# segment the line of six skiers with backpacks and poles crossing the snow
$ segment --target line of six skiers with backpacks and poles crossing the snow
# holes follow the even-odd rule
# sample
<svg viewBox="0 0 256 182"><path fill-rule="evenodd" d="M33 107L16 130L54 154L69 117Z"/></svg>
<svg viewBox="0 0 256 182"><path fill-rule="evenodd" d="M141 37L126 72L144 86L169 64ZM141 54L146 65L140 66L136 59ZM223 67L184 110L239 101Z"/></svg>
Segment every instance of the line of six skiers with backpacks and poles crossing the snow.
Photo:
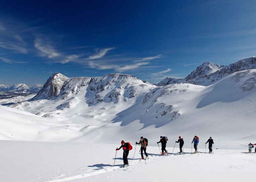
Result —
<svg viewBox="0 0 256 182"><path fill-rule="evenodd" d="M168 151L165 149L165 148L166 148L166 143L167 143L167 141L168 141L168 138L167 138L167 137L165 137L165 136L160 136L160 141L157 142L157 144L161 143L161 150L162 150L161 156L168 154ZM182 153L183 153L183 145L184 145L184 140L183 140L183 138L181 138L181 136L179 136L178 141L175 141L175 142L176 142L176 143L179 143L179 149L180 149L179 154L182 154ZM198 145L198 143L199 143L199 137L198 137L198 136L195 136L195 137L193 138L193 141L192 141L191 143L193 143L193 142L194 142L194 149L195 149L195 152L194 152L194 153L197 153L197 152L198 152L197 145ZM207 140L207 142L206 142L205 144L207 144L208 142L209 142L209 153L212 153L212 152L213 152L212 146L213 146L213 144L214 144L212 137L210 137L210 138ZM251 143L250 143L250 144L251 144ZM139 142L136 142L136 145L140 145L140 146L141 146L141 150L140 150L140 151L141 151L141 159L142 159L142 160L143 160L143 159L145 159L145 160L148 159L149 156L148 156L148 154L147 154L147 152L146 152L147 146L148 146L148 139L141 137L141 138L140 138L140 141L139 141ZM256 144L254 144L254 145L256 145ZM191 147L192 147L192 146L191 146ZM129 150L132 149L132 146L131 146L131 144L130 144L129 142L125 143L125 142L122 140L122 141L121 141L121 146L120 146L119 148L116 148L116 151L120 150L121 148L123 148L123 162L124 162L123 167L126 167L126 166L129 165L127 157L128 157L128 155L129 155ZM160 149L160 148L159 148L159 149ZM191 150L192 150L192 149L191 149ZM145 154L146 158L144 158L144 156L143 156L143 151L144 151L144 154ZM165 152L165 153L164 153L164 152Z"/></svg>

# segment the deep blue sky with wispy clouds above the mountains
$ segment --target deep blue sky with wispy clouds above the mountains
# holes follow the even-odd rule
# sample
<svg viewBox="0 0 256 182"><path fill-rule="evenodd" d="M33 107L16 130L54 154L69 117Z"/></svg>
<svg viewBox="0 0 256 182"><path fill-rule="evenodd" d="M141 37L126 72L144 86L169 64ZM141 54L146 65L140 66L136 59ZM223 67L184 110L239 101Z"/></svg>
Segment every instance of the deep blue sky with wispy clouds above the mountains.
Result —
<svg viewBox="0 0 256 182"><path fill-rule="evenodd" d="M184 78L256 55L256 1L2 1L0 84L132 74Z"/></svg>

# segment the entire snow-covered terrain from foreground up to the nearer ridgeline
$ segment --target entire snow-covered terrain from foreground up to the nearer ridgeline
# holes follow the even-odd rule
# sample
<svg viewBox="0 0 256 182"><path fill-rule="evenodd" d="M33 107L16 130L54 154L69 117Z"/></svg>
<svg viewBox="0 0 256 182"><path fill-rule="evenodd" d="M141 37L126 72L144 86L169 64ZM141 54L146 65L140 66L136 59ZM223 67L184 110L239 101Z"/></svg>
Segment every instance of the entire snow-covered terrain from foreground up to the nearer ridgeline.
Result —
<svg viewBox="0 0 256 182"><path fill-rule="evenodd" d="M157 87L121 74L62 78L59 95L51 99L0 106L0 181L252 179L256 154L248 154L248 144L256 143L255 69L210 86ZM160 156L160 135L168 136L168 156ZM200 153L191 155L195 135ZM146 161L139 160L140 147L135 145L141 136L149 140ZM185 142L184 155L177 155L178 136ZM214 154L205 145L210 136ZM121 140L133 145L127 168L120 167L122 150L114 164Z"/></svg>

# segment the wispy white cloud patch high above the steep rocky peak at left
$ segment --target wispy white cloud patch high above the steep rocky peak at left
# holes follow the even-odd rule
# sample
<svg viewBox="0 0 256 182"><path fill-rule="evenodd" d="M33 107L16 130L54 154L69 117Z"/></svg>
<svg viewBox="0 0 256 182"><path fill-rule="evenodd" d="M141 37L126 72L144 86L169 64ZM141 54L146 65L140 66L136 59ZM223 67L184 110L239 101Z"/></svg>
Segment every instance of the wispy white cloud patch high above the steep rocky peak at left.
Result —
<svg viewBox="0 0 256 182"><path fill-rule="evenodd" d="M43 45L42 40L38 38L34 41L34 47L42 57L56 58L61 56L51 45Z"/></svg>

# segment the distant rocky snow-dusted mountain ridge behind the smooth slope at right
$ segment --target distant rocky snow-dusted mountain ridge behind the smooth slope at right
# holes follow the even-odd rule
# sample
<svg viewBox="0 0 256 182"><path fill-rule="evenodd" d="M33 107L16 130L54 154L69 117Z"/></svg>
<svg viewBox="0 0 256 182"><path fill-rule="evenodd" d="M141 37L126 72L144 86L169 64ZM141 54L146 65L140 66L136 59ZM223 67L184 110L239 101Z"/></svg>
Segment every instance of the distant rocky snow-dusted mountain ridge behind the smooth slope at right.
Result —
<svg viewBox="0 0 256 182"><path fill-rule="evenodd" d="M255 69L255 68L256 68L255 56L237 61L227 66L206 62L200 65L199 67L197 67L194 71L192 71L187 77L183 79L166 77L156 85L165 86L168 84L185 82L185 83L191 83L194 85L208 86L234 72L247 70L247 69Z"/></svg>

